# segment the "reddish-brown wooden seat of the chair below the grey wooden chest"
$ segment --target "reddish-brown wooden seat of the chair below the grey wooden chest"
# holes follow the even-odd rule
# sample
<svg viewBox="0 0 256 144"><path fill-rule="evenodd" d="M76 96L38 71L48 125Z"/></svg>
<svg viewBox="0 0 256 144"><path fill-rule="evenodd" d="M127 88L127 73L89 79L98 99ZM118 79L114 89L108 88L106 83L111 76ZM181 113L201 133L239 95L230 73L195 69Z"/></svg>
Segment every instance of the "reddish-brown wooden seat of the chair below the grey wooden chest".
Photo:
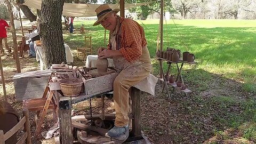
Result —
<svg viewBox="0 0 256 144"><path fill-rule="evenodd" d="M29 111L43 110L47 98L23 100L23 108ZM51 102L48 109L53 109L54 105Z"/></svg>

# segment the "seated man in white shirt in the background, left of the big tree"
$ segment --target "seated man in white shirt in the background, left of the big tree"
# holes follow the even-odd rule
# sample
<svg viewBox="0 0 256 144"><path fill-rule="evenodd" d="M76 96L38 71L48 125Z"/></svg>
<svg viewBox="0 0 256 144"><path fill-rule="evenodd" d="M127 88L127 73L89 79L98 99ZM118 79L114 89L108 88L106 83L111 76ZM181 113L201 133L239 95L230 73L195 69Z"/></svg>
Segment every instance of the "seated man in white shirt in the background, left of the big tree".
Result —
<svg viewBox="0 0 256 144"><path fill-rule="evenodd" d="M26 38L29 38L29 57L35 58L36 57L36 51L34 47L34 41L40 40L38 31L37 31L37 21L32 22L32 27L35 29L32 33L27 34Z"/></svg>

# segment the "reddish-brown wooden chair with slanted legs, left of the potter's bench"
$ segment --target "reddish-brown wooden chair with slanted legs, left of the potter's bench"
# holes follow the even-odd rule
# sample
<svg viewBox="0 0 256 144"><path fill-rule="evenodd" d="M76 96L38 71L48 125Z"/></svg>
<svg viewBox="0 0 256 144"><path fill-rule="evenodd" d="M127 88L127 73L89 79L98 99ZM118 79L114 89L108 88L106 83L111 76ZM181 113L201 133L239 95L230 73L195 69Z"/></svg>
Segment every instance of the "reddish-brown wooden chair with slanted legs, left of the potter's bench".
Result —
<svg viewBox="0 0 256 144"><path fill-rule="evenodd" d="M48 83L50 82L51 77L52 77L52 74L49 77ZM46 97L47 93L49 93L48 97ZM49 87L46 86L42 98L23 100L23 108L28 109L28 111L36 111L35 118L34 118L34 122L36 123L36 131L34 134L34 139L36 138L36 136L41 130L41 126L43 124L43 121L48 109L53 109L54 121L58 121L58 116L56 114L57 104L55 104L53 100L53 95L54 95L54 91L50 91ZM38 120L37 117L41 111L42 111L41 117L37 122Z"/></svg>

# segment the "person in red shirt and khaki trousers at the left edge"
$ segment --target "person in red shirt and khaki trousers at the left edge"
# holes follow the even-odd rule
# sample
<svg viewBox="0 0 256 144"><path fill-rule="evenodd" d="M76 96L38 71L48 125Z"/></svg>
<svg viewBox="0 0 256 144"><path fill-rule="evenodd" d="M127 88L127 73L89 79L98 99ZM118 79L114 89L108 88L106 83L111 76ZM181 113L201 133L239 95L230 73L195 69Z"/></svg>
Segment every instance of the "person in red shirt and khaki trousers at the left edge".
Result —
<svg viewBox="0 0 256 144"><path fill-rule="evenodd" d="M7 34L6 34L7 28L9 28L8 23L0 17L0 48L1 48L1 53L3 54L4 54L3 42L4 42L5 50L7 50L7 52L11 52L11 50L9 49L9 45L7 44Z"/></svg>

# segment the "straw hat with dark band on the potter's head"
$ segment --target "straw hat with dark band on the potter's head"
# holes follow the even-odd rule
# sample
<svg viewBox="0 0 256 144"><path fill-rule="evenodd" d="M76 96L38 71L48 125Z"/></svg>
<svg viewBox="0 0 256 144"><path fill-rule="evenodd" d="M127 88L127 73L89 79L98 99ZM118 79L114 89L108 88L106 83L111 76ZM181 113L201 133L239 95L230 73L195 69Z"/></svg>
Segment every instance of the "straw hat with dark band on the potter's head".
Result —
<svg viewBox="0 0 256 144"><path fill-rule="evenodd" d="M110 9L108 4L102 4L95 10L98 20L93 24L93 26L100 25L100 22L106 17L106 15L110 12L118 13L120 9Z"/></svg>

